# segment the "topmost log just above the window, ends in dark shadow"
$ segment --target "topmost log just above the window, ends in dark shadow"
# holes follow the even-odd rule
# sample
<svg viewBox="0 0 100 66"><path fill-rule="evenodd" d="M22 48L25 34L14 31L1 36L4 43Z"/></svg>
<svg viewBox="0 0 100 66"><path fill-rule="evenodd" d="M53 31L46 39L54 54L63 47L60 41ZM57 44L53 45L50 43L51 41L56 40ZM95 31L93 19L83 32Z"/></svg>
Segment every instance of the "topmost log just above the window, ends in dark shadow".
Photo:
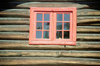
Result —
<svg viewBox="0 0 100 66"><path fill-rule="evenodd" d="M8 2L0 3L1 8L30 8L30 7L77 7L77 8L100 8L99 2ZM95 5L96 4L96 5ZM6 6L4 6L6 5Z"/></svg>

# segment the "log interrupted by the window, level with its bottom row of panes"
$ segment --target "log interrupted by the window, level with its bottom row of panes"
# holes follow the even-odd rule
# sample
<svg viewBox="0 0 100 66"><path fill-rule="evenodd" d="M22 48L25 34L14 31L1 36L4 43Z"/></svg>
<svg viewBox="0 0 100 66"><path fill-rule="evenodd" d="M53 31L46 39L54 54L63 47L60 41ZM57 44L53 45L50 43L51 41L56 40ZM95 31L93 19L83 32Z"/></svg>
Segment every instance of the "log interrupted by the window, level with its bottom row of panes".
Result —
<svg viewBox="0 0 100 66"><path fill-rule="evenodd" d="M0 39L29 39L28 32L0 32ZM100 34L77 33L77 39L100 40Z"/></svg>

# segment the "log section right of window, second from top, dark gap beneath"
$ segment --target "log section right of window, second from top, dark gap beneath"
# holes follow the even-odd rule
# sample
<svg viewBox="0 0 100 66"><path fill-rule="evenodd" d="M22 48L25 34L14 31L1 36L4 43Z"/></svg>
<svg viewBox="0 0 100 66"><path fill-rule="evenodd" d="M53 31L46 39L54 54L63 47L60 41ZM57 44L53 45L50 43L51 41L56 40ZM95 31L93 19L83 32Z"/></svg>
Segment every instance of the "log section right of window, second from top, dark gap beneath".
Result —
<svg viewBox="0 0 100 66"><path fill-rule="evenodd" d="M100 16L79 16L77 17L78 26L100 26Z"/></svg>

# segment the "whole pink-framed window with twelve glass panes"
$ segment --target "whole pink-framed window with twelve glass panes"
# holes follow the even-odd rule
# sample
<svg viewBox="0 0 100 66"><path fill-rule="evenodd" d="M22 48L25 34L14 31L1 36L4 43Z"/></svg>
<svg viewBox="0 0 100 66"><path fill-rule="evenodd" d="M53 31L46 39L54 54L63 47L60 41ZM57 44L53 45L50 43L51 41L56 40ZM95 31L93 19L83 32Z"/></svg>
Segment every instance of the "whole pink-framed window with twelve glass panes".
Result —
<svg viewBox="0 0 100 66"><path fill-rule="evenodd" d="M30 45L76 45L76 8L30 8Z"/></svg>

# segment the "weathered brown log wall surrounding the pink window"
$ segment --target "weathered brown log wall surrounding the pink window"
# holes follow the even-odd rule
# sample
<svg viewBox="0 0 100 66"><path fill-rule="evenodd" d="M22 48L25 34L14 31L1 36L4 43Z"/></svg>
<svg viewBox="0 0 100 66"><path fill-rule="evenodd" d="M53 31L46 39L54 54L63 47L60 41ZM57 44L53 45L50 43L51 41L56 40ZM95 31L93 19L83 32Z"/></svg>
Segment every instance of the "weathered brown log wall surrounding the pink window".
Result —
<svg viewBox="0 0 100 66"><path fill-rule="evenodd" d="M100 65L98 0L0 1L0 66ZM28 45L30 7L77 7L77 45Z"/></svg>

